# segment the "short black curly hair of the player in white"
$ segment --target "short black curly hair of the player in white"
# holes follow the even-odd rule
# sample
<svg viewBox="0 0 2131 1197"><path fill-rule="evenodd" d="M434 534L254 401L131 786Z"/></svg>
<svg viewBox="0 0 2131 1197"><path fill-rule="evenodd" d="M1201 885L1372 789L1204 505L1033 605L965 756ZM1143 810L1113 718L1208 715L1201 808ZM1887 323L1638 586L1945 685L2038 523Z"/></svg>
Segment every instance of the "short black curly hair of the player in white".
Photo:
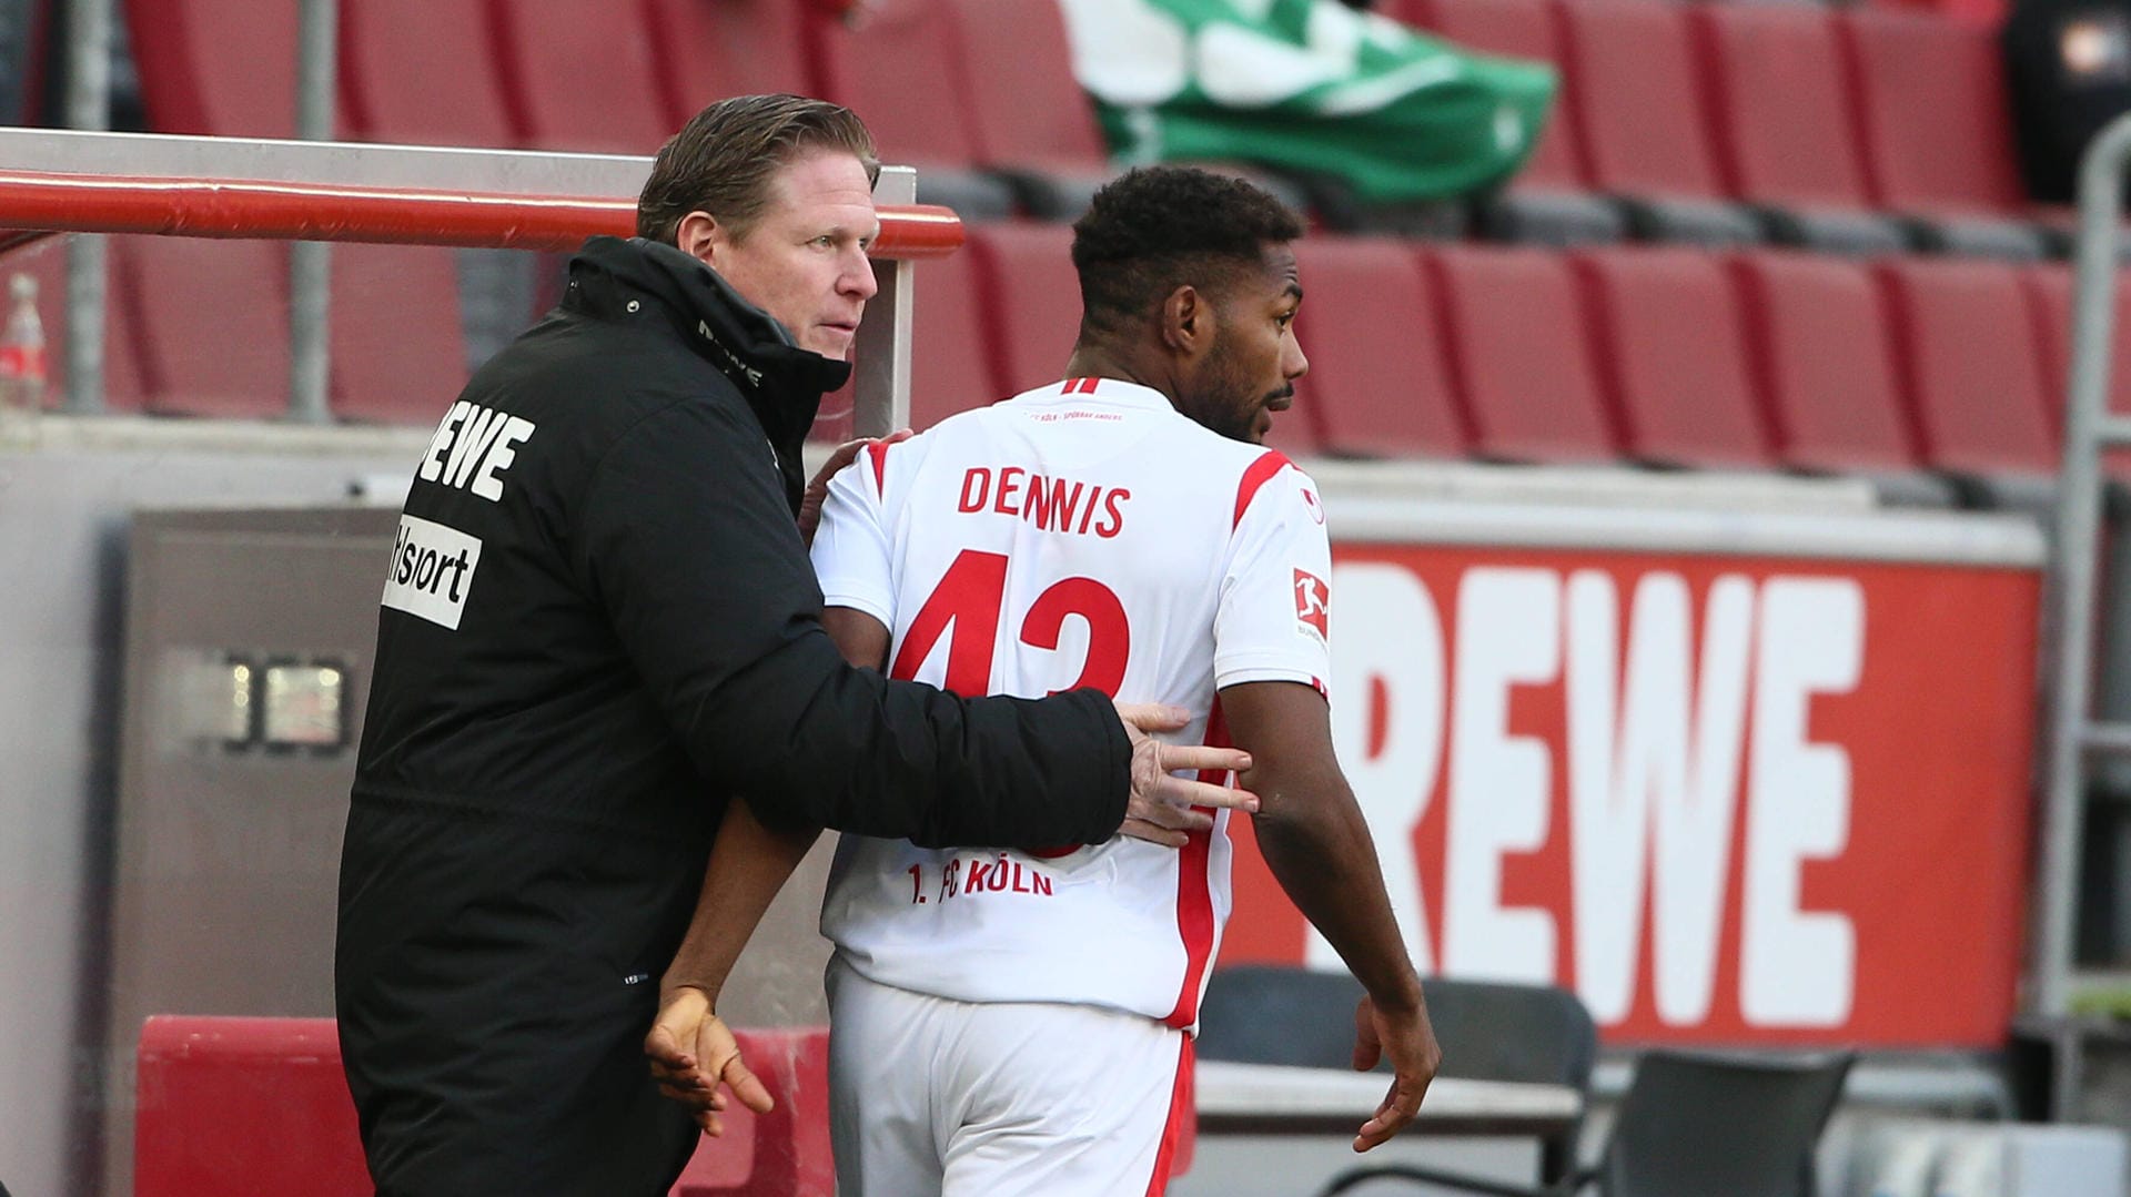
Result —
<svg viewBox="0 0 2131 1197"><path fill-rule="evenodd" d="M1072 226L1083 326L1144 317L1181 285L1223 288L1259 268L1266 243L1302 219L1262 187L1193 166L1140 166L1112 179Z"/></svg>

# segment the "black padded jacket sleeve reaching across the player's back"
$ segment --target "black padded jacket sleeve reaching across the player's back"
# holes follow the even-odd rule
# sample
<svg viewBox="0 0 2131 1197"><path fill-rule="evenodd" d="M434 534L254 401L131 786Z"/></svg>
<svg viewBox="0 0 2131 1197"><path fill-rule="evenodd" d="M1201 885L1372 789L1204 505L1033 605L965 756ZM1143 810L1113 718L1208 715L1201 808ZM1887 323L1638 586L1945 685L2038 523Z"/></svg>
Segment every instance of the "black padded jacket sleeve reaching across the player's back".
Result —
<svg viewBox="0 0 2131 1197"><path fill-rule="evenodd" d="M767 820L1040 848L1125 818L1132 752L1102 694L957 699L844 662L769 443L737 407L690 398L622 434L573 556L697 769Z"/></svg>

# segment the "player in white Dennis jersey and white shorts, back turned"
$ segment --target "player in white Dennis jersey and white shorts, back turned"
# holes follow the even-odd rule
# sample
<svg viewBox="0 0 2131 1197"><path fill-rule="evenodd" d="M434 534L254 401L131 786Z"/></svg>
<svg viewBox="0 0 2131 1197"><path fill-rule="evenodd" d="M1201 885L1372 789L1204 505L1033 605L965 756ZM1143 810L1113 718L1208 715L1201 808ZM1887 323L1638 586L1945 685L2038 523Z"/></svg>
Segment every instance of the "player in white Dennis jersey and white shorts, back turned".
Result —
<svg viewBox="0 0 2131 1197"><path fill-rule="evenodd" d="M1413 1120L1441 1052L1332 752L1323 509L1264 447L1308 368L1300 234L1204 170L1106 185L1074 226L1068 379L863 454L829 483L814 567L852 665L972 694L1093 684L1251 752L1257 843L1368 995L1353 1063L1394 1063L1368 1150ZM667 971L646 1050L705 1127L718 1080L754 1080L699 1027L812 841L733 805ZM823 901L837 1193L1161 1193L1230 852L1225 814L1181 854L844 835Z"/></svg>

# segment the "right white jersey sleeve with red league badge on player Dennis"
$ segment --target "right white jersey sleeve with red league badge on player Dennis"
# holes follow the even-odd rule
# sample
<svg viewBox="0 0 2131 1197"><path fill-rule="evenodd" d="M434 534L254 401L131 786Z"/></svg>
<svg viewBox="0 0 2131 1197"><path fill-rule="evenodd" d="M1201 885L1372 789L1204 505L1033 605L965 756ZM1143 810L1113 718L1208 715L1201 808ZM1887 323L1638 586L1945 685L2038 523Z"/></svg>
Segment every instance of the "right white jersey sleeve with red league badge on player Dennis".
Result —
<svg viewBox="0 0 2131 1197"><path fill-rule="evenodd" d="M1215 688L1332 675L1332 543L1317 483L1283 466L1236 520L1215 613Z"/></svg>

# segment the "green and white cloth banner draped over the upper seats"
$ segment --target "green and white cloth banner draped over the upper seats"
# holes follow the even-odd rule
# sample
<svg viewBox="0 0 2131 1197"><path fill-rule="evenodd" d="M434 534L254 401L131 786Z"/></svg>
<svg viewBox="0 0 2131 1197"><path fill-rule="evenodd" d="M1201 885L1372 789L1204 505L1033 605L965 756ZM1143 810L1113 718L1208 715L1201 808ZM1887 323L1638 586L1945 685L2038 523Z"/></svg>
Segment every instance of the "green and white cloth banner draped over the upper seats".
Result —
<svg viewBox="0 0 2131 1197"><path fill-rule="evenodd" d="M1125 162L1234 160L1364 200L1494 187L1539 141L1556 72L1336 0L1061 0L1074 75Z"/></svg>

